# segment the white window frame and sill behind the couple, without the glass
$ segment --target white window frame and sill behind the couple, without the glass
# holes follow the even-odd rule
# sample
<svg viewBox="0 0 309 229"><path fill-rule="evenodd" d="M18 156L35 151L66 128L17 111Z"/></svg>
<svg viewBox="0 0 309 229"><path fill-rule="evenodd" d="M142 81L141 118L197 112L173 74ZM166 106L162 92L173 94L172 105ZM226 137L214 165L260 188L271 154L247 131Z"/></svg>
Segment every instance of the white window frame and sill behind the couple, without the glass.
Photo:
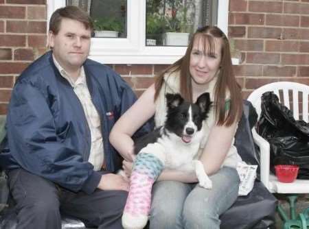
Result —
<svg viewBox="0 0 309 229"><path fill-rule="evenodd" d="M127 38L91 38L89 58L104 64L172 64L187 47L146 46L146 0L127 0ZM47 0L47 21L65 0ZM218 0L218 27L227 34L229 1ZM47 28L48 30L48 28Z"/></svg>

